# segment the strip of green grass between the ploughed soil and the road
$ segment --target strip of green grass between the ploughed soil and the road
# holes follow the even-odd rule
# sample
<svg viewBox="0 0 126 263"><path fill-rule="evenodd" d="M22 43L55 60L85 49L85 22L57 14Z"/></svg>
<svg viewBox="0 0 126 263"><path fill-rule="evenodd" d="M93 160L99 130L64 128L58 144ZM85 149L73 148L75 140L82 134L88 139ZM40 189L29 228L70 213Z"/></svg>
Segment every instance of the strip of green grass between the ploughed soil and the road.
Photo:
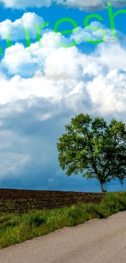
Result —
<svg viewBox="0 0 126 263"><path fill-rule="evenodd" d="M100 203L80 202L71 207L34 209L24 214L4 213L0 217L0 249L123 210L126 210L126 192L109 192Z"/></svg>

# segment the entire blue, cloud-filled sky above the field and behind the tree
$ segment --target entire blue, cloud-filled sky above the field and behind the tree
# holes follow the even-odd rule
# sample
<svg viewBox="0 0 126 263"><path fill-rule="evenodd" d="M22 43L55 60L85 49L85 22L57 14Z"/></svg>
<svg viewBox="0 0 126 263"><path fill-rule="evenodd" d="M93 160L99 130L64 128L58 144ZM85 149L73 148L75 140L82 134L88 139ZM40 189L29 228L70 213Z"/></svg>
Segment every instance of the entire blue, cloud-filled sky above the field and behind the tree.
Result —
<svg viewBox="0 0 126 263"><path fill-rule="evenodd" d="M113 14L126 10L126 0L111 4ZM66 176L57 139L79 113L103 117L107 124L112 118L126 123L126 13L114 18L116 39L103 0L2 0L0 14L0 188L101 192L96 179ZM91 14L97 17L85 26ZM73 19L78 31L62 22L58 31L71 33L55 33L61 18ZM35 24L47 21L38 43ZM103 42L89 43L86 37ZM78 43L63 47L58 39L63 45ZM119 181L107 183L109 191L126 191L126 180L122 187Z"/></svg>

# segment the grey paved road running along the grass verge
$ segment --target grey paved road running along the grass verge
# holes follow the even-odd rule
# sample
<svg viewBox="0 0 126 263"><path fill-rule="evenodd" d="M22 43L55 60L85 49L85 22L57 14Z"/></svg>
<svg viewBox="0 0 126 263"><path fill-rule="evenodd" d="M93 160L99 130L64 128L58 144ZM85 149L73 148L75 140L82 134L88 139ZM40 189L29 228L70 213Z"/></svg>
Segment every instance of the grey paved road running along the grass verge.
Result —
<svg viewBox="0 0 126 263"><path fill-rule="evenodd" d="M0 250L1 263L126 263L126 211Z"/></svg>

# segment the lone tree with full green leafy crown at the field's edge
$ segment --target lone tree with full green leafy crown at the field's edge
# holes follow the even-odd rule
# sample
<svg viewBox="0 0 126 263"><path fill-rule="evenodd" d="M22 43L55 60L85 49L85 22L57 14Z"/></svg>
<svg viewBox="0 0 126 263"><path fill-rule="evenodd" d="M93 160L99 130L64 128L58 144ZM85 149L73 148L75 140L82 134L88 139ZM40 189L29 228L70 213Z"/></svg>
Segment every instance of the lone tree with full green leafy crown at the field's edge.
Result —
<svg viewBox="0 0 126 263"><path fill-rule="evenodd" d="M102 192L107 192L106 182L126 177L126 126L114 118L107 125L103 118L92 118L80 113L65 125L57 149L58 160L67 176L83 173L87 180L99 180Z"/></svg>

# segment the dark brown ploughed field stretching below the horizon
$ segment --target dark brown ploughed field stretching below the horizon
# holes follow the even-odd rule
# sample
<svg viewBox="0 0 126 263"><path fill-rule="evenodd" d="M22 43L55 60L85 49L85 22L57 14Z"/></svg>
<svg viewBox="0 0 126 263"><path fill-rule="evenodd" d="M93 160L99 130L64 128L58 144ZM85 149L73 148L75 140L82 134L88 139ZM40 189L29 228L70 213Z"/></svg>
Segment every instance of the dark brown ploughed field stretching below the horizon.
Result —
<svg viewBox="0 0 126 263"><path fill-rule="evenodd" d="M0 188L0 214L54 209L78 202L98 203L106 193L18 190Z"/></svg>

